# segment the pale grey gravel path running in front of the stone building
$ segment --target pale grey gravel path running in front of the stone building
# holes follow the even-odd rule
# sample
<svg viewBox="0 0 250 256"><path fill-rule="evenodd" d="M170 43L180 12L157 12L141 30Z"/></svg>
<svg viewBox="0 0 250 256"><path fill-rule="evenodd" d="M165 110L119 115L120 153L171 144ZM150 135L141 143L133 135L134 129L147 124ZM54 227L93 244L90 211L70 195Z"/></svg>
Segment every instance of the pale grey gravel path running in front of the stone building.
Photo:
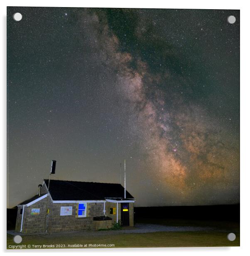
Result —
<svg viewBox="0 0 250 256"><path fill-rule="evenodd" d="M131 234L131 233L153 233L153 232L197 232L197 231L225 231L215 227L209 226L164 226L157 224L135 224L134 228L125 228L121 230L101 230L101 231L74 231L66 232L71 233L73 236L103 236L103 235L115 235L115 234ZM17 235L13 230L7 231L8 234ZM53 234L53 236L61 236L65 233ZM29 235L29 234L21 234ZM34 235L34 234L33 234ZM48 235L48 234L36 234L36 235Z"/></svg>

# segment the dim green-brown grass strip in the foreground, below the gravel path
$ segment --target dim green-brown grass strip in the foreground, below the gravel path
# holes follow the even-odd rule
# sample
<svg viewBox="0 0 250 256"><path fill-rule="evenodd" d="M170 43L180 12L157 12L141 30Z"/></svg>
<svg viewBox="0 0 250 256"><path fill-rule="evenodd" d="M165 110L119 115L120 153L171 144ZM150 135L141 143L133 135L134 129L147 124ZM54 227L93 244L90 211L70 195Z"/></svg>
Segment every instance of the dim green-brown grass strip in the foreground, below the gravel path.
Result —
<svg viewBox="0 0 250 256"><path fill-rule="evenodd" d="M74 236L72 234L53 235L29 235L22 236L19 245L61 245L59 248L70 248L69 244L83 244L85 248L91 248L90 244L114 244L120 247L197 247L197 246L240 246L240 234L236 233L235 241L227 240L224 232L156 232L145 234L119 234L109 236L86 237L85 235ZM7 249L17 245L13 242L13 236L7 234ZM49 247L51 248L51 247ZM77 247L75 247L77 248ZM84 247L83 247L84 248ZM39 248L37 248L39 249Z"/></svg>

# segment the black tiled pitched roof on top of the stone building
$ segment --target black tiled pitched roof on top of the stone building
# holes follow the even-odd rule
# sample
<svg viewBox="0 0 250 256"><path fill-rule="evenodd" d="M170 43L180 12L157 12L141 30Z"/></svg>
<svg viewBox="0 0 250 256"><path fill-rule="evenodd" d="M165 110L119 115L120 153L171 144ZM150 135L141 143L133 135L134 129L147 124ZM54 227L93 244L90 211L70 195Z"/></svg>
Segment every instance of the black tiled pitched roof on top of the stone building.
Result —
<svg viewBox="0 0 250 256"><path fill-rule="evenodd" d="M48 181L44 180L48 187ZM124 187L115 183L80 182L68 180L50 180L49 193L53 200L105 200L105 198L123 198ZM134 198L126 192L127 198Z"/></svg>

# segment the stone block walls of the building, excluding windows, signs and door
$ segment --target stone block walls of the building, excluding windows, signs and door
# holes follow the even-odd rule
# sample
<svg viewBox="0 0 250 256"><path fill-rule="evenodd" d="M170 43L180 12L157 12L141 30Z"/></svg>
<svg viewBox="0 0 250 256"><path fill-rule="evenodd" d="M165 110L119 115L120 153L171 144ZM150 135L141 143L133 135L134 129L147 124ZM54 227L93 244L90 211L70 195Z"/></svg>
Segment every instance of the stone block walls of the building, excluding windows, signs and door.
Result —
<svg viewBox="0 0 250 256"><path fill-rule="evenodd" d="M60 215L61 207L72 207L72 215ZM121 219L121 209L120 203L118 204L118 209L116 209L115 214L110 214L110 208L117 208L116 203L105 203L105 214L106 216L112 218L108 222L93 221L93 217L103 216L104 202L100 203L88 203L87 202L87 212L86 217L78 217L77 203L52 203L50 197L46 197L29 207L25 207L22 233L43 233L46 231L48 233L57 233L65 231L78 231L86 229L107 229L111 228L115 222L117 222L117 212L118 221ZM31 209L39 208L40 212L37 215L31 214ZM20 210L22 206L18 207L17 210L17 222L16 231L20 232L22 214ZM47 209L49 209L49 214L47 214ZM134 226L134 204L130 203L130 226ZM48 215L48 217L47 217ZM103 222L103 223L100 223ZM47 224L46 224L47 223ZM95 224L94 224L95 223Z"/></svg>

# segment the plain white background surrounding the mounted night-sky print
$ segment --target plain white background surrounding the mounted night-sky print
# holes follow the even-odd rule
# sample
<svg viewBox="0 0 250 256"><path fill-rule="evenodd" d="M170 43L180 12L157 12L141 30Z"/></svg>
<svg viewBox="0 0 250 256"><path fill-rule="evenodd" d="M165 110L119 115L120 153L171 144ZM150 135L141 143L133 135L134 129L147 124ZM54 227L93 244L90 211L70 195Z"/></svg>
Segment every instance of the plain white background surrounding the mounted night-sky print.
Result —
<svg viewBox="0 0 250 256"><path fill-rule="evenodd" d="M211 247L211 248L141 248L141 249L101 249L100 252L102 255L109 255L110 253L117 254L138 254L138 252L143 252L145 255L151 255L152 252L157 252L159 255L166 255L172 253L174 255L185 255L185 256L194 256L194 255L226 255L226 256L234 256L235 254L244 254L249 252L249 181L250 181L250 172L249 172L249 145L250 145L250 133L249 133L249 109L250 109L250 89L249 89L249 10L250 4L249 1L235 1L235 0L209 0L209 1L200 1L200 0L175 0L175 1L162 1L162 0L154 0L154 1L131 1L127 0L123 1L114 1L114 0L92 0L92 1L80 1L80 0L71 0L71 1L59 1L59 0L43 0L43 1L31 1L31 0L3 0L1 1L1 18L2 18L2 26L1 26L1 77L2 77L2 85L6 84L6 6L67 6L67 7L147 7L147 8L196 8L196 9L241 9L240 10L240 84L241 84L241 92L240 92L240 209L241 209L241 241L240 247ZM2 170L6 170L6 87L1 86L1 120L2 120L2 136L0 145L2 145ZM5 121L4 121L5 120ZM6 202L6 172L2 172L2 201ZM2 212L1 212L2 213ZM2 236L0 241L2 242L1 248L2 251L6 251L6 211L3 211L2 216ZM62 252L74 252L74 253L91 253L93 254L93 249L85 249L82 251L81 249L47 249L46 253L48 254L59 254ZM31 251L22 251L15 250L14 252L8 251L10 254L16 254L18 252L22 253L34 253L34 250ZM35 251L42 252L44 250Z"/></svg>

